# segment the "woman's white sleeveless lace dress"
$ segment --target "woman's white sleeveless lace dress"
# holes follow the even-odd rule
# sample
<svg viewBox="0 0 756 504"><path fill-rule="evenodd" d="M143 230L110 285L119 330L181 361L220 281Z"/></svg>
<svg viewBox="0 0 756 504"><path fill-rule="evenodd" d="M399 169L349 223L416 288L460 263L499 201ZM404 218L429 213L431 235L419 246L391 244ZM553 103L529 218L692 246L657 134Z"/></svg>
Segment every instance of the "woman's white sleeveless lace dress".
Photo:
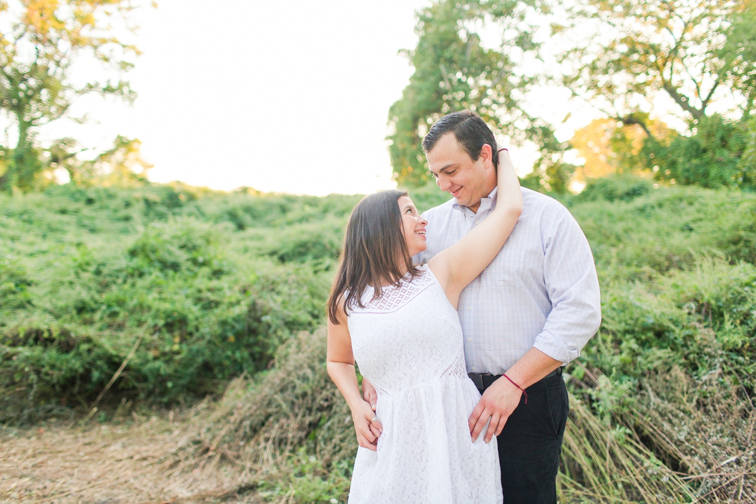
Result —
<svg viewBox="0 0 756 504"><path fill-rule="evenodd" d="M422 269L377 300L369 287L365 308L349 308L352 351L383 424L377 452L358 448L349 504L497 504L496 439L470 441L480 394L467 377L457 311Z"/></svg>

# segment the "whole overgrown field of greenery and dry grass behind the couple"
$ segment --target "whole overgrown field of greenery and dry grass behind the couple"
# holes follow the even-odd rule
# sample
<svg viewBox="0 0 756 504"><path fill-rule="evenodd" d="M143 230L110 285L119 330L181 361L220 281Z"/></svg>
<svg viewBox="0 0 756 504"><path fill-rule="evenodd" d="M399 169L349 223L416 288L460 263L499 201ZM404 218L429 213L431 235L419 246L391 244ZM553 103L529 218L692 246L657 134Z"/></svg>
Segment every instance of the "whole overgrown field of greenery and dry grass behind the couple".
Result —
<svg viewBox="0 0 756 504"><path fill-rule="evenodd" d="M0 499L344 502L354 434L319 328L357 200L0 196ZM567 369L562 502L756 502L756 196L609 178L562 203L603 299ZM76 450L77 476L49 469Z"/></svg>

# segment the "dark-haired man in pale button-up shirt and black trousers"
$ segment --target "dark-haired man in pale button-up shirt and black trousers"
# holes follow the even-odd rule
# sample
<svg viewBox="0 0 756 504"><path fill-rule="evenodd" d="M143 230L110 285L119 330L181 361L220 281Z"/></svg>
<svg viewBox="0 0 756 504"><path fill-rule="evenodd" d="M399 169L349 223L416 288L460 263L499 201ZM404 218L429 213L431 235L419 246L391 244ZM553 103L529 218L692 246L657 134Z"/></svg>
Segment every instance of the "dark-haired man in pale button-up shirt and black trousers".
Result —
<svg viewBox="0 0 756 504"><path fill-rule="evenodd" d="M469 110L435 122L423 150L436 184L454 199L423 213L428 248L416 257L420 263L491 212L498 163L491 129ZM473 440L497 435L505 504L556 504L569 408L561 369L599 327L599 283L590 247L569 211L525 188L522 200L509 240L463 291L457 308L467 370L482 392L469 427ZM374 407L370 384L363 394Z"/></svg>

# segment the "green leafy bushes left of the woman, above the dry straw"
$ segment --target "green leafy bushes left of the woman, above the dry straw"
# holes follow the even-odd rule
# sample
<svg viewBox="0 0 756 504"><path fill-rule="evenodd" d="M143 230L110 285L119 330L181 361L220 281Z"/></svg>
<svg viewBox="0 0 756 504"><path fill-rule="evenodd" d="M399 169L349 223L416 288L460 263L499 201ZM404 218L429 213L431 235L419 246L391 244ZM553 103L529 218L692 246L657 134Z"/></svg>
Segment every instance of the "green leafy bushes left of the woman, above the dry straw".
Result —
<svg viewBox="0 0 756 504"><path fill-rule="evenodd" d="M91 403L137 342L111 397L173 402L265 369L291 334L317 326L343 217L318 233L301 202L277 206L278 221L311 230L279 240L279 227L232 227L222 199L200 196L160 186L0 196L0 420Z"/></svg>

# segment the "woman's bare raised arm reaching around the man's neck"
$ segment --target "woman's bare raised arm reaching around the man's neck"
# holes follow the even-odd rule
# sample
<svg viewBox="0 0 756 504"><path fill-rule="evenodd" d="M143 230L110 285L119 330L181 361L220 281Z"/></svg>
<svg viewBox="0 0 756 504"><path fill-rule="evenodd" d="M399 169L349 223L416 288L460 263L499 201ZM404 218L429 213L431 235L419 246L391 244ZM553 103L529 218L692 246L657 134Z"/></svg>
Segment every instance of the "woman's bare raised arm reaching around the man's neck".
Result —
<svg viewBox="0 0 756 504"><path fill-rule="evenodd" d="M446 297L457 308L460 293L494 260L522 213L522 192L510 153L499 153L496 208L462 240L428 262Z"/></svg>

